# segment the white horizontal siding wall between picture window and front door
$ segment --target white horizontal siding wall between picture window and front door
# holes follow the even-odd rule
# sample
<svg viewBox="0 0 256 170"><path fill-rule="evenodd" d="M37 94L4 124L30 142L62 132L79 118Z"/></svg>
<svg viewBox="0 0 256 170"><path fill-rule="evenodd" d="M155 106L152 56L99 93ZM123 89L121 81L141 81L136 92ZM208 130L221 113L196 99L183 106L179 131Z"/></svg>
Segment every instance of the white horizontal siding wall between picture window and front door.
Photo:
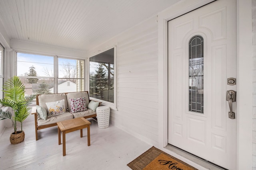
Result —
<svg viewBox="0 0 256 170"><path fill-rule="evenodd" d="M158 23L156 16L95 48L117 45L118 110L115 126L155 145L158 143Z"/></svg>

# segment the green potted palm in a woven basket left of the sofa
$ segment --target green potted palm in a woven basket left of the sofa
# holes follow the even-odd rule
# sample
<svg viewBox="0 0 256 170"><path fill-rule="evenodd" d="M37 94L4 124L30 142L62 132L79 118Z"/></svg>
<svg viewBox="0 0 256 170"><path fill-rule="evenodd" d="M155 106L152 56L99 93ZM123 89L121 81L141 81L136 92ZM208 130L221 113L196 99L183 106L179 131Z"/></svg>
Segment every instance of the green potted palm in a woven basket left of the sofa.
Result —
<svg viewBox="0 0 256 170"><path fill-rule="evenodd" d="M0 99L0 104L11 107L14 111L4 111L0 109L0 120L11 119L14 132L10 135L11 144L17 144L24 141L25 133L22 130L22 122L30 114L29 105L36 97L35 95L25 95L25 86L17 76L9 78L3 86L4 98ZM20 122L21 130L17 131L17 122Z"/></svg>

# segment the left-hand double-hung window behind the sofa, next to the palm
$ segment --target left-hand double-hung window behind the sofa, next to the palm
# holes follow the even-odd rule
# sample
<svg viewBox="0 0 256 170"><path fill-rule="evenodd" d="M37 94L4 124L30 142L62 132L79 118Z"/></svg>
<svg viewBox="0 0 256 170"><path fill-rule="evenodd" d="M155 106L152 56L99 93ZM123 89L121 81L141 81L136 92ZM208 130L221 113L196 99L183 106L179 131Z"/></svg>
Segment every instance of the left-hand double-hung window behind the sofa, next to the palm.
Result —
<svg viewBox="0 0 256 170"><path fill-rule="evenodd" d="M17 53L17 76L26 94L48 94L54 86L54 57Z"/></svg>

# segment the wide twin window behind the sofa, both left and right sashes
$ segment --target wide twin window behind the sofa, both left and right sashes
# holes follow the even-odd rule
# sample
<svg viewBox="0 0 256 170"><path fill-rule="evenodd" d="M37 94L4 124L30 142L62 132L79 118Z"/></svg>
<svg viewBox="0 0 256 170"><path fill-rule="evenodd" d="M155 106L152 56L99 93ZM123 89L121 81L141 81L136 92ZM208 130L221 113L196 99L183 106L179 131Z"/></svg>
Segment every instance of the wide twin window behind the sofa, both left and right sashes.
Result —
<svg viewBox="0 0 256 170"><path fill-rule="evenodd" d="M80 92L84 91L84 60L17 53L17 76L26 94Z"/></svg>

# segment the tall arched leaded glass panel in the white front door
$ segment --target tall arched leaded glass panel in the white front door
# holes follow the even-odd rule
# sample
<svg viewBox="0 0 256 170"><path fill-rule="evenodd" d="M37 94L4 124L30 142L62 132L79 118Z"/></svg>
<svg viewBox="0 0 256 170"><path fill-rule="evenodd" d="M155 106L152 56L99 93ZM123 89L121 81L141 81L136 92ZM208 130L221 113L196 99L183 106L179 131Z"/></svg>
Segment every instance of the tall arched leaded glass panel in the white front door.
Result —
<svg viewBox="0 0 256 170"><path fill-rule="evenodd" d="M189 111L204 113L204 39L189 41Z"/></svg>

